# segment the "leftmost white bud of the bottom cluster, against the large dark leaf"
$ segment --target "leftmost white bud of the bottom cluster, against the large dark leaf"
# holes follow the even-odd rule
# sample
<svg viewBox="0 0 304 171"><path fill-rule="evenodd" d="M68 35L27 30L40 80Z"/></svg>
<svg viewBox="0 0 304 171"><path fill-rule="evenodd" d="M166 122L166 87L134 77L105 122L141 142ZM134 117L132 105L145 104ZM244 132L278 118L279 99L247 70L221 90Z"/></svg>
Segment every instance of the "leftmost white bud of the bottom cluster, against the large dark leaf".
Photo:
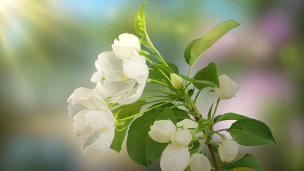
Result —
<svg viewBox="0 0 304 171"><path fill-rule="evenodd" d="M156 120L150 126L148 134L157 142L169 142L171 134L176 131L176 127L171 120Z"/></svg>

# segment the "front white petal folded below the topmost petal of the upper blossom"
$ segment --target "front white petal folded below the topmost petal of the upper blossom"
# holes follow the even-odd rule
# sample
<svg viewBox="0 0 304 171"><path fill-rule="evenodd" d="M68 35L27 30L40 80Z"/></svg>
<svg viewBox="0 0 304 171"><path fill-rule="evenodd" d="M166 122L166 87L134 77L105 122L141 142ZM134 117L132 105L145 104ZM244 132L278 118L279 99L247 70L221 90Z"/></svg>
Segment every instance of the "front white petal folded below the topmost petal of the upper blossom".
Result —
<svg viewBox="0 0 304 171"><path fill-rule="evenodd" d="M112 44L114 53L124 60L130 60L132 56L138 55L137 51L133 47L120 46Z"/></svg>

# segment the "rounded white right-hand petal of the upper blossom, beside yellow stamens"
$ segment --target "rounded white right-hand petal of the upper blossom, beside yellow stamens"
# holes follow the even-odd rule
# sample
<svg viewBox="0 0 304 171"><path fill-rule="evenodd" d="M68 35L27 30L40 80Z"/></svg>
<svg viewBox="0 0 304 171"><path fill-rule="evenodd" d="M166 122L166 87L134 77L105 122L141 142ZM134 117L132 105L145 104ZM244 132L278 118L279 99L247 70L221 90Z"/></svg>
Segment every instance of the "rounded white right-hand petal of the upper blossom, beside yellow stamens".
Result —
<svg viewBox="0 0 304 171"><path fill-rule="evenodd" d="M128 78L135 78L139 84L145 83L149 74L143 56L132 56L130 60L123 60L123 73Z"/></svg>

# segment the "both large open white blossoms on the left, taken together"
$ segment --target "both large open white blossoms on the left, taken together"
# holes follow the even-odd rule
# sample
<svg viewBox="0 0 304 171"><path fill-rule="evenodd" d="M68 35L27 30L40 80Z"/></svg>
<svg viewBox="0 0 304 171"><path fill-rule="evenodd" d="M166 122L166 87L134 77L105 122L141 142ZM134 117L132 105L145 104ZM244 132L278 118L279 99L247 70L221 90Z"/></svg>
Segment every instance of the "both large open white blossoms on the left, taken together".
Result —
<svg viewBox="0 0 304 171"><path fill-rule="evenodd" d="M68 113L73 117L73 129L84 139L85 154L100 154L109 149L117 123L113 109L135 102L142 94L148 67L144 56L138 54L137 36L122 33L95 61L97 71L91 76L95 88L79 87L68 97Z"/></svg>

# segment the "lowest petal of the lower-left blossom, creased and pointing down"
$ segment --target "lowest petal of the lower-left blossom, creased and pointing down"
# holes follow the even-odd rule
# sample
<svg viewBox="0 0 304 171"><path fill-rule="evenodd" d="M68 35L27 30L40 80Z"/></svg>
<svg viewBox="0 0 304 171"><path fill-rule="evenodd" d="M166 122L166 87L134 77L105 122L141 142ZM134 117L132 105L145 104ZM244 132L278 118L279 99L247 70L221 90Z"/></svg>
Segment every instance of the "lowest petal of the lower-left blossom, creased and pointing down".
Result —
<svg viewBox="0 0 304 171"><path fill-rule="evenodd" d="M82 143L81 149L85 154L100 155L108 150L114 138L115 127L92 132Z"/></svg>

